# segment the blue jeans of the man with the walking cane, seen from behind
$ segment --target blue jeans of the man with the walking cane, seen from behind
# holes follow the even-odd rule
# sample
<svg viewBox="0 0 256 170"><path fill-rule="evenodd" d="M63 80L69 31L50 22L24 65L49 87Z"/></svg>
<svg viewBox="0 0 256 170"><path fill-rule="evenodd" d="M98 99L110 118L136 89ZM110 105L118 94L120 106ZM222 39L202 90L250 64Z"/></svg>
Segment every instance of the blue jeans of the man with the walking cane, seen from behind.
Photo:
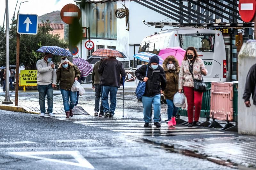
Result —
<svg viewBox="0 0 256 170"><path fill-rule="evenodd" d="M109 112L109 105L108 105L108 93L110 92L110 114L115 115L116 110L116 93L117 87L115 86L102 86L102 96L101 101L104 107L104 112Z"/></svg>

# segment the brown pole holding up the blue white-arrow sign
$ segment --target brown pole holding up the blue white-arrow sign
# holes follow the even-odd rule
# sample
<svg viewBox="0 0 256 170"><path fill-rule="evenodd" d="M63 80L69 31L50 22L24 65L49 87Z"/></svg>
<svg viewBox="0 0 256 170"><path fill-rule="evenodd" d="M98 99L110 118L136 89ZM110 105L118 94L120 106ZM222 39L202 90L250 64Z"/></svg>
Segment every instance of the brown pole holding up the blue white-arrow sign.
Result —
<svg viewBox="0 0 256 170"><path fill-rule="evenodd" d="M15 81L15 106L18 106L19 99L19 67L20 67L20 34L17 33L17 48L16 48L16 81Z"/></svg>

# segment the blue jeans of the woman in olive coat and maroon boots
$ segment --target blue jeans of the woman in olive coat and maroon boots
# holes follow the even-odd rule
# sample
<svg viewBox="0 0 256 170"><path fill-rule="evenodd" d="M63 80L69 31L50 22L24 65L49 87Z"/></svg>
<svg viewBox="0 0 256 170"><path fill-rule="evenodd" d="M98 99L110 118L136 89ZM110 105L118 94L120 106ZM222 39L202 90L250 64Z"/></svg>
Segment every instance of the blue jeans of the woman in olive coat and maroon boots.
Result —
<svg viewBox="0 0 256 170"><path fill-rule="evenodd" d="M76 104L76 92L60 89L65 112L72 110ZM70 104L68 104L70 98Z"/></svg>

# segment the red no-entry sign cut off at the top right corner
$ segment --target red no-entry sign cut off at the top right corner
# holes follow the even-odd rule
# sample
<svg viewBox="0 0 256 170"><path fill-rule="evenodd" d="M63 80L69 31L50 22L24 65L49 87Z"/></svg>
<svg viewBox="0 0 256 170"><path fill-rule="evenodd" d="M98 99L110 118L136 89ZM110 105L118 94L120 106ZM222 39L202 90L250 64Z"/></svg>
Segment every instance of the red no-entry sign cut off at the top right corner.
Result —
<svg viewBox="0 0 256 170"><path fill-rule="evenodd" d="M256 0L240 0L239 14L244 22L251 22L255 16Z"/></svg>

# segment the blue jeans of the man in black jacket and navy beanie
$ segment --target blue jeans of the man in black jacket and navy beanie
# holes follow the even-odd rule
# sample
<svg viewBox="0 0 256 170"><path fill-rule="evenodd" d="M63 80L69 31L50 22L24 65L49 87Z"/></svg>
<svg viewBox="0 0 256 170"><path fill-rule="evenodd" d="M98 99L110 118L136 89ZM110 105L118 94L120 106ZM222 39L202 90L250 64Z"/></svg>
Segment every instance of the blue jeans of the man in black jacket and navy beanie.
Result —
<svg viewBox="0 0 256 170"><path fill-rule="evenodd" d="M143 104L143 114L144 114L144 122L150 122L150 113L152 108L152 103L154 107L154 121L159 121L160 109L161 109L161 101L160 94L155 95L154 97L142 96L142 104Z"/></svg>

